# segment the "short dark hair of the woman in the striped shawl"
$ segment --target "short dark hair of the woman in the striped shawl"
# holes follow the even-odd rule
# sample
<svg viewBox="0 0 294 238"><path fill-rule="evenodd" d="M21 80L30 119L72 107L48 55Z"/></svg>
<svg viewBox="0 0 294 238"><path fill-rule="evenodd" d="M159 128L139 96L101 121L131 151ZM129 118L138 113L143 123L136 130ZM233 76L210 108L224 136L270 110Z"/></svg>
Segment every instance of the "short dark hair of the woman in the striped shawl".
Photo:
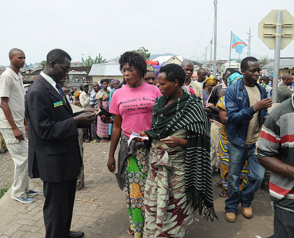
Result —
<svg viewBox="0 0 294 238"><path fill-rule="evenodd" d="M177 79L179 80L180 86L185 82L186 73L178 64L167 64L161 67L159 72L165 73L165 77L169 82L174 82Z"/></svg>

